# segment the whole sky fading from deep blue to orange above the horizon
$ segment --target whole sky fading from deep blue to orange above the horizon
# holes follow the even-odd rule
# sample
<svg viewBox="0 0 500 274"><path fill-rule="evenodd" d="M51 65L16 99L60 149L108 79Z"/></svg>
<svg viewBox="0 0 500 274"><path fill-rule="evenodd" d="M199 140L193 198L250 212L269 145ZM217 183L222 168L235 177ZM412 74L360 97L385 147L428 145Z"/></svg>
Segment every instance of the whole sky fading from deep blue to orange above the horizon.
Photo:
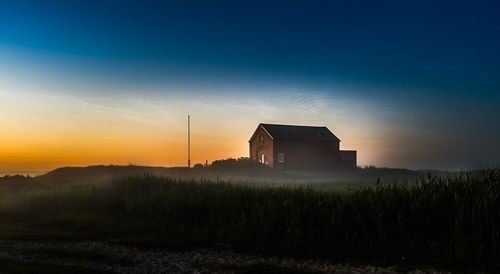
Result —
<svg viewBox="0 0 500 274"><path fill-rule="evenodd" d="M2 1L0 174L248 156L327 126L358 164L500 163L498 1Z"/></svg>

